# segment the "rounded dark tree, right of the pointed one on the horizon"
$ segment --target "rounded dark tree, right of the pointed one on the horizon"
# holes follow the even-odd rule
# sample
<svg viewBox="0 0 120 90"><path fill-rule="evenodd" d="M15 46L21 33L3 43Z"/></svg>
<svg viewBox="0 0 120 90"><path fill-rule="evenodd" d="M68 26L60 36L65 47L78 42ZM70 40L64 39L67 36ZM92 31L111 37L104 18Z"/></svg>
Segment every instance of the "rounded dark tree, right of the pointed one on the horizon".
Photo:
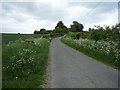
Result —
<svg viewBox="0 0 120 90"><path fill-rule="evenodd" d="M81 23L78 23L77 21L73 21L73 25L70 26L72 32L81 32L84 28L84 26Z"/></svg>

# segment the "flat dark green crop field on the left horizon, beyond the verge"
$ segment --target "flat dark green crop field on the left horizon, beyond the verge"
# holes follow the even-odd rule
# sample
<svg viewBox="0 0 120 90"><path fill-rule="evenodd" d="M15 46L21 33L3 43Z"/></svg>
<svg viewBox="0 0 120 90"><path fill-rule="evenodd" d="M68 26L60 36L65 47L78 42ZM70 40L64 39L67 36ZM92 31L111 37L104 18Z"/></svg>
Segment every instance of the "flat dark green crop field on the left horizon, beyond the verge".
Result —
<svg viewBox="0 0 120 90"><path fill-rule="evenodd" d="M41 37L40 34L2 34L2 43L8 43L9 41L15 41L19 39L27 39L27 38L37 38Z"/></svg>

